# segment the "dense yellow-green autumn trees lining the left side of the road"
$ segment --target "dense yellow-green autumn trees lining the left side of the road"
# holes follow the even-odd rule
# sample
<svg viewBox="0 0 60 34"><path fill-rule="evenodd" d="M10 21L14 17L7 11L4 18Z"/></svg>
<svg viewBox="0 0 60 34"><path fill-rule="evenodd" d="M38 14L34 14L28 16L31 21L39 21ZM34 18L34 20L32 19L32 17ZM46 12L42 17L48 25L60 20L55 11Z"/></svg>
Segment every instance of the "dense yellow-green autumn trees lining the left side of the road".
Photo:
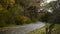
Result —
<svg viewBox="0 0 60 34"><path fill-rule="evenodd" d="M0 0L0 27L37 21L36 0Z"/></svg>

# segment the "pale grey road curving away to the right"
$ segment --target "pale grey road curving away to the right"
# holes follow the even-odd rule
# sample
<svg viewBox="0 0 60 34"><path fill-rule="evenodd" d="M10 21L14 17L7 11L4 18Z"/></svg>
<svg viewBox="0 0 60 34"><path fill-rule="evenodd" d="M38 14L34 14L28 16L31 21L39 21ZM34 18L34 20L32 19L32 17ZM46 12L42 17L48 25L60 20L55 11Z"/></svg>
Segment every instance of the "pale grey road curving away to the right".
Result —
<svg viewBox="0 0 60 34"><path fill-rule="evenodd" d="M45 26L44 23L38 22L38 23L32 23L22 26L13 27L12 29L9 29L4 32L0 32L0 34L26 34L32 30L35 30L37 28L41 28Z"/></svg>

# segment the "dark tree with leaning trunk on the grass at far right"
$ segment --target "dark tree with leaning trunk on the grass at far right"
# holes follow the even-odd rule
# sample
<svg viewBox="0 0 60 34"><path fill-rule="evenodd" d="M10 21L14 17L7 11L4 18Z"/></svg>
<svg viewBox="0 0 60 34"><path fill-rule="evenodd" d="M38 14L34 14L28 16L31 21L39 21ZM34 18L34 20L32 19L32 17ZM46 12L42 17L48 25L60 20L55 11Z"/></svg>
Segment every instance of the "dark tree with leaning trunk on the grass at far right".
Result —
<svg viewBox="0 0 60 34"><path fill-rule="evenodd" d="M51 25L49 26L49 28L47 29L47 27L46 27L46 29L47 29L47 31L48 31L48 33L47 33L47 31L46 31L46 34L51 34L51 31L52 31L52 29L54 28L54 25L55 24L60 24L60 1L54 1L54 2L52 2L52 3L49 3L48 5L47 5L47 7L46 8L52 8L52 13L50 13L50 16L48 15L48 19L47 19L47 22L49 22Z"/></svg>

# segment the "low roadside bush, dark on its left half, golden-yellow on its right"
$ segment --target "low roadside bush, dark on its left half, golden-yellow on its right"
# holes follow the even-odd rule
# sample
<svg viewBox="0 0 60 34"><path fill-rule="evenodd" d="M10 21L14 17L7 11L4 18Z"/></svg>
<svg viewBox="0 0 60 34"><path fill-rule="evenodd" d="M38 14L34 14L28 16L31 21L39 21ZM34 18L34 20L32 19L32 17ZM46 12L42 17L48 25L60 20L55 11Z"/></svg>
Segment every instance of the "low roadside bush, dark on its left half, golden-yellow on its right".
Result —
<svg viewBox="0 0 60 34"><path fill-rule="evenodd" d="M22 25L22 24L28 24L31 22L31 20L26 17L26 16L19 16L17 17L17 19L15 20L17 25Z"/></svg>

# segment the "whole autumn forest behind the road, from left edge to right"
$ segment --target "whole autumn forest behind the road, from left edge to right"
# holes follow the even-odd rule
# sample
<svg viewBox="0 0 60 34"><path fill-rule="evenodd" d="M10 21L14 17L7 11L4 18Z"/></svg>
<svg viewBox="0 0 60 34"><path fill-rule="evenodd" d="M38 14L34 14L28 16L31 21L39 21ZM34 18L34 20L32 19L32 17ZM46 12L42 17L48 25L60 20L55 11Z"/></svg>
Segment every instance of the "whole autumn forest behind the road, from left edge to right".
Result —
<svg viewBox="0 0 60 34"><path fill-rule="evenodd" d="M44 0L43 0L44 1ZM60 3L42 0L0 0L0 27L31 22L60 22ZM50 11L50 12L49 12Z"/></svg>

